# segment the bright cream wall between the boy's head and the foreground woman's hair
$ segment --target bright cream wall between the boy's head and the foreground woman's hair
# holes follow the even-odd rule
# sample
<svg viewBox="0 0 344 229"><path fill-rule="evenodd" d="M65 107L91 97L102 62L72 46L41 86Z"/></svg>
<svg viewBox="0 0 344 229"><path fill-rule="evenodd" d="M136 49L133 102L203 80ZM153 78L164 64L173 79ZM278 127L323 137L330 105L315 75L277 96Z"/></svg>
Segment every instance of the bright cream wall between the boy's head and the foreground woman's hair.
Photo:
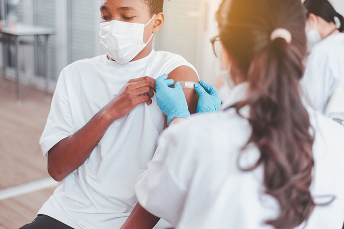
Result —
<svg viewBox="0 0 344 229"><path fill-rule="evenodd" d="M218 35L215 12L220 0L165 0L165 25L155 37L155 49L182 55L201 77L214 83L210 39Z"/></svg>

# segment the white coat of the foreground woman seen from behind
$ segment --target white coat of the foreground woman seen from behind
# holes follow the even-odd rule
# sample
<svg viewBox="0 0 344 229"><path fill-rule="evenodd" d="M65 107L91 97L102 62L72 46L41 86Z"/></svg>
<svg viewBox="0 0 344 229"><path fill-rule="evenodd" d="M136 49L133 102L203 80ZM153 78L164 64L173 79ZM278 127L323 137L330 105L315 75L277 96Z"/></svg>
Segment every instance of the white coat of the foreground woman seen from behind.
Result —
<svg viewBox="0 0 344 229"><path fill-rule="evenodd" d="M236 86L231 102L243 99L247 84ZM233 104L229 100L228 104ZM246 117L248 109L242 114ZM306 229L341 229L344 222L344 128L310 111L315 128L314 197L336 196L316 206ZM135 186L140 204L177 229L271 229L264 221L279 215L277 201L264 194L263 167L238 168L239 152L252 128L235 109L194 115L163 132L148 170ZM243 168L259 158L251 145L241 156ZM329 198L315 198L321 204ZM303 227L299 227L300 229Z"/></svg>

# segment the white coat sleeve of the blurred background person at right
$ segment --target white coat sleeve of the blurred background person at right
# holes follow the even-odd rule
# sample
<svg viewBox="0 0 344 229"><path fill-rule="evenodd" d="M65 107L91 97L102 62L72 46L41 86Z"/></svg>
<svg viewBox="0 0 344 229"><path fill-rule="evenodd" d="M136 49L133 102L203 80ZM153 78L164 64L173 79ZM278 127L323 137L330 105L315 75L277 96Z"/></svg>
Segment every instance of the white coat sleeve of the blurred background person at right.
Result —
<svg viewBox="0 0 344 229"><path fill-rule="evenodd" d="M308 58L306 71L301 80L307 101L321 113L325 112L338 81L331 69L330 62L331 57L327 52L315 49Z"/></svg>

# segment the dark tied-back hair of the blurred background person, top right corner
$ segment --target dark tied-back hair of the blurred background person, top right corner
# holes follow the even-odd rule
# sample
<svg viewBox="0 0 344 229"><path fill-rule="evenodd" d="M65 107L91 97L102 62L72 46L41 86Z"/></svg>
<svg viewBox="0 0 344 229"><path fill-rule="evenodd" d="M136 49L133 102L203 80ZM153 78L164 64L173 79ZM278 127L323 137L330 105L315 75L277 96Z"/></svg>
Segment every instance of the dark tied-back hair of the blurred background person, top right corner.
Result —
<svg viewBox="0 0 344 229"><path fill-rule="evenodd" d="M326 22L333 22L334 24L336 24L335 17L337 17L341 22L341 27L338 30L344 32L344 17L333 8L328 0L306 0L303 5L307 10L307 17L312 13Z"/></svg>

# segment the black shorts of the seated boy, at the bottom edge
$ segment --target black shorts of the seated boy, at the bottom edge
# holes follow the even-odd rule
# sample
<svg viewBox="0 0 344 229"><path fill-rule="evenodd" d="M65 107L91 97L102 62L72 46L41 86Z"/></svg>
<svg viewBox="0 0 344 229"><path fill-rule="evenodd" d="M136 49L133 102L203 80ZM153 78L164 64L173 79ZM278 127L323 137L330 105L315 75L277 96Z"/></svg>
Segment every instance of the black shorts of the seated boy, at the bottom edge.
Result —
<svg viewBox="0 0 344 229"><path fill-rule="evenodd" d="M38 215L31 223L24 225L20 229L73 229L58 220L47 216Z"/></svg>

